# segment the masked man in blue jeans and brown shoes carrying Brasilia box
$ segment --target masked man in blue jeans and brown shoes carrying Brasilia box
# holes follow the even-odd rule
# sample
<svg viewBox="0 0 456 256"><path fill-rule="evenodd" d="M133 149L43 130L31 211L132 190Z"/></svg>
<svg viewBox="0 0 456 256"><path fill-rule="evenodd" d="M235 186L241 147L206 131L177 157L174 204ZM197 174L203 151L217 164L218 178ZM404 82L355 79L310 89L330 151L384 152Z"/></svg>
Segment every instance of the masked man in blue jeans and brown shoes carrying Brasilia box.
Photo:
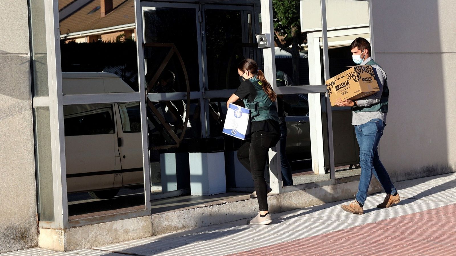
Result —
<svg viewBox="0 0 456 256"><path fill-rule="evenodd" d="M359 179L358 193L355 200L349 205L342 205L342 209L353 214L363 214L372 174L382 184L386 192L383 203L378 208L387 208L399 203L399 194L394 187L389 174L383 167L378 157L378 143L386 126L388 113L388 79L383 69L371 57L370 43L358 37L350 46L353 61L358 65L371 65L378 83L379 91L371 96L355 101L340 98L336 104L340 107L353 108L352 124L355 126L356 138L359 144L359 159L361 164L361 177Z"/></svg>

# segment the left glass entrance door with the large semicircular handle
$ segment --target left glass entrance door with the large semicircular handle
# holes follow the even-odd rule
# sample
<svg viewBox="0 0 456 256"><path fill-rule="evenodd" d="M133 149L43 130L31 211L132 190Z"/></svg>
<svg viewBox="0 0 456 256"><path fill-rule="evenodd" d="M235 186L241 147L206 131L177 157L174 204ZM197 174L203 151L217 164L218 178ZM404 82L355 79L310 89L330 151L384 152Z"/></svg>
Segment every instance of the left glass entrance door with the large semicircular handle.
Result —
<svg viewBox="0 0 456 256"><path fill-rule="evenodd" d="M151 198L190 194L186 139L201 138L199 5L141 2ZM154 204L154 203L152 203Z"/></svg>

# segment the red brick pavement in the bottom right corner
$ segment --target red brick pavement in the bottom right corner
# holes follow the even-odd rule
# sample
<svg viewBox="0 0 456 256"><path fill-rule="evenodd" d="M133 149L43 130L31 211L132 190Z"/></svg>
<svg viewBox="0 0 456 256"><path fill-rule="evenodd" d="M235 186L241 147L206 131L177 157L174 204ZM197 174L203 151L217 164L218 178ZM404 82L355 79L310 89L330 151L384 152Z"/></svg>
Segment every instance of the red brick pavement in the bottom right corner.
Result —
<svg viewBox="0 0 456 256"><path fill-rule="evenodd" d="M233 255L456 256L456 204Z"/></svg>

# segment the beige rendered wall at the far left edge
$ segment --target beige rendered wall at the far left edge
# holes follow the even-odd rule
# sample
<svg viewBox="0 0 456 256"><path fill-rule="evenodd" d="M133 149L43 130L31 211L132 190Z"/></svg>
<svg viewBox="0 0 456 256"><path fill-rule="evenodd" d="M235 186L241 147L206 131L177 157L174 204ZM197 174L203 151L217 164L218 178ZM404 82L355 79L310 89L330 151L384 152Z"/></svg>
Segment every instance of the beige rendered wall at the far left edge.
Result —
<svg viewBox="0 0 456 256"><path fill-rule="evenodd" d="M37 245L27 1L0 1L0 252Z"/></svg>

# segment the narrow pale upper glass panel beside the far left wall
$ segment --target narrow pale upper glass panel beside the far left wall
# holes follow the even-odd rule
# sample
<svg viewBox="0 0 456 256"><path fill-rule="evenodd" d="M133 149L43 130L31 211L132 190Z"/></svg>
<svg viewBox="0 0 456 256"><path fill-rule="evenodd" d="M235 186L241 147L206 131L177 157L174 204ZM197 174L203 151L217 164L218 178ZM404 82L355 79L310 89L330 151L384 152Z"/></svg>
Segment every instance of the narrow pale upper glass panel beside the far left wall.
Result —
<svg viewBox="0 0 456 256"><path fill-rule="evenodd" d="M44 0L29 2L34 96L48 96Z"/></svg>

